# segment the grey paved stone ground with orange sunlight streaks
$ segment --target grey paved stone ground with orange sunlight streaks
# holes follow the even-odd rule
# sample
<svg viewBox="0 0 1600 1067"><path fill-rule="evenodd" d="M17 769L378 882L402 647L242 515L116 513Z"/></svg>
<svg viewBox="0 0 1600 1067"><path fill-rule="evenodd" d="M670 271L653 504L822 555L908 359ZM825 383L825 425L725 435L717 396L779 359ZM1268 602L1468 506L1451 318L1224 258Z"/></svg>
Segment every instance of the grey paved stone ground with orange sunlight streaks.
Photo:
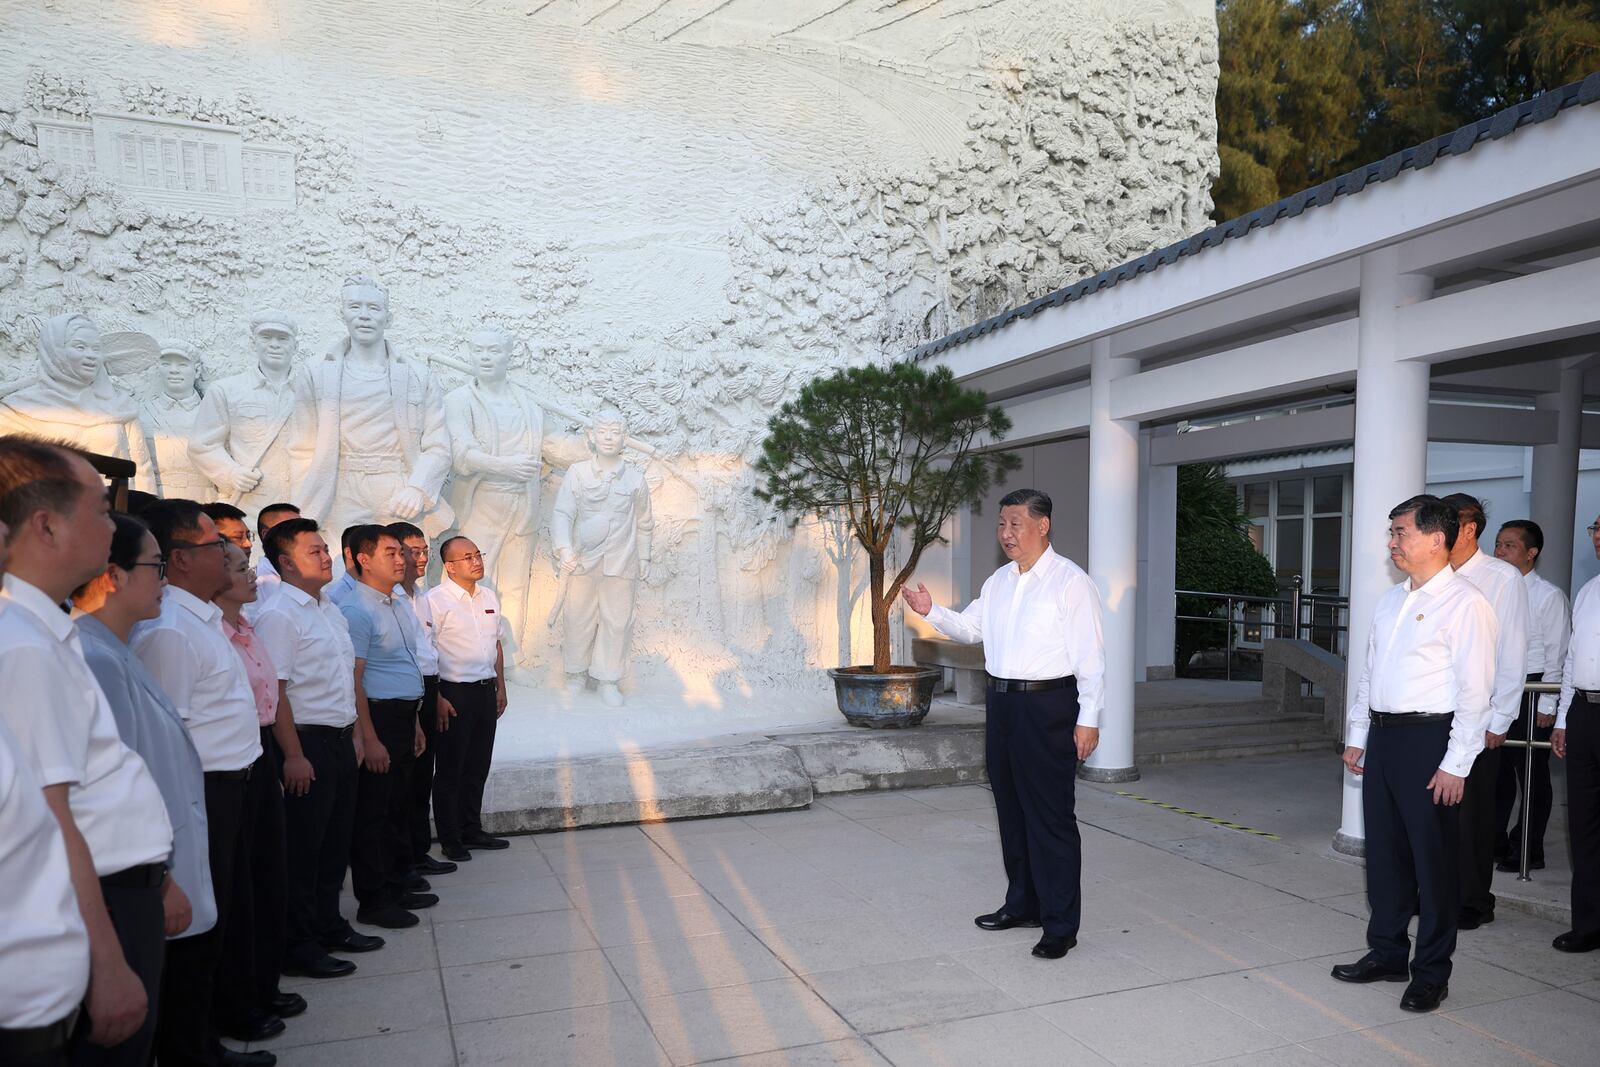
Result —
<svg viewBox="0 0 1600 1067"><path fill-rule="evenodd" d="M355 976L294 982L310 1009L262 1048L285 1067L1600 1062L1600 958L1525 913L1461 936L1434 1016L1328 977L1365 929L1362 869L1326 848L1331 760L1125 787L1277 841L1080 782L1083 931L1054 963L1035 931L971 923L1002 893L981 785L520 837L437 878L438 907Z"/></svg>

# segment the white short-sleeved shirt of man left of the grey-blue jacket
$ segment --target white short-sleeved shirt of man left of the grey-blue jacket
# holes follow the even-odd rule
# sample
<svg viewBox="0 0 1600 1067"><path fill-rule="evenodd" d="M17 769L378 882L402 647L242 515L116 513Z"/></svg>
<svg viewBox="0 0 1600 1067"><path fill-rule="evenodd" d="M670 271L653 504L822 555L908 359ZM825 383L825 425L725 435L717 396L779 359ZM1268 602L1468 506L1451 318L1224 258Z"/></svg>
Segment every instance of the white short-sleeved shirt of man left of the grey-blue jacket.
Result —
<svg viewBox="0 0 1600 1067"><path fill-rule="evenodd" d="M83 662L72 619L16 574L0 589L0 721L34 761L38 784L69 784L72 821L112 875L173 854L173 824L144 760ZM8 864L0 864L5 867Z"/></svg>

